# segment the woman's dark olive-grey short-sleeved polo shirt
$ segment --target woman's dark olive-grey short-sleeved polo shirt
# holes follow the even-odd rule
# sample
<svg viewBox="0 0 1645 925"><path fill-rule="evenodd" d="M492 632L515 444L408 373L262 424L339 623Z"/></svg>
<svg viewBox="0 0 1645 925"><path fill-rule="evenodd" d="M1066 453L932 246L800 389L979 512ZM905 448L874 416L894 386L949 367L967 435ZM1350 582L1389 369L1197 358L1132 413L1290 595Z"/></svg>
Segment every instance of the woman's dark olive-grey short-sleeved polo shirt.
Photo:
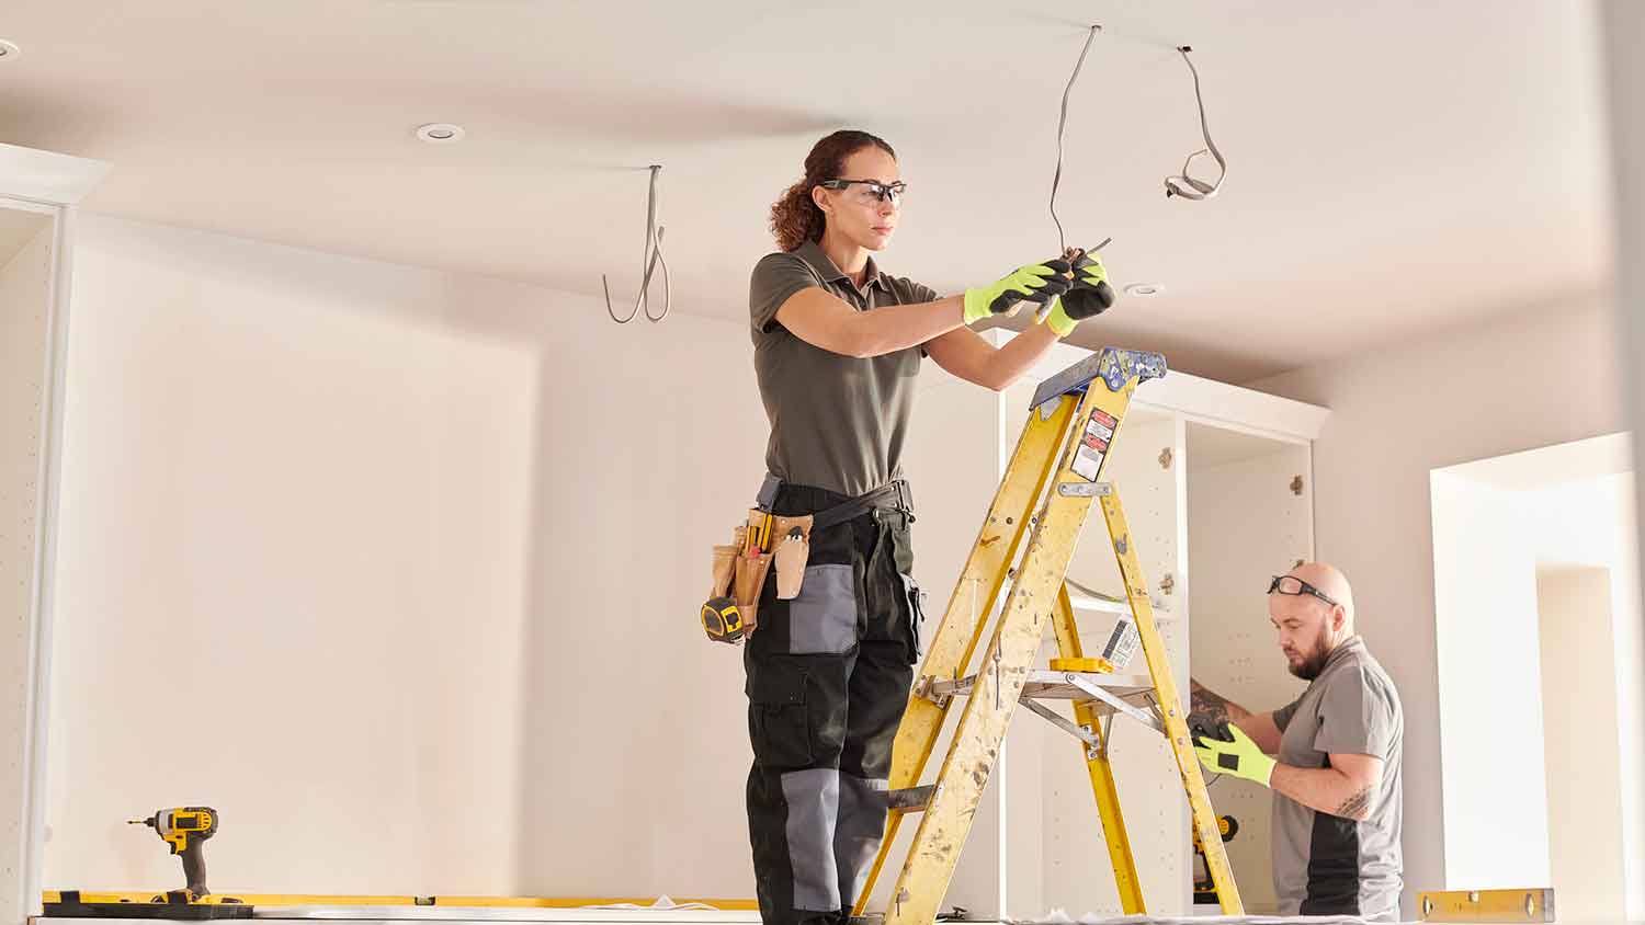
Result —
<svg viewBox="0 0 1645 925"><path fill-rule="evenodd" d="M924 350L857 358L806 343L776 320L776 311L808 286L839 296L859 312L934 302L938 296L928 286L880 273L872 258L867 284L857 289L816 242L767 255L753 268L753 375L772 422L765 470L783 481L855 498L903 476L903 440Z"/></svg>

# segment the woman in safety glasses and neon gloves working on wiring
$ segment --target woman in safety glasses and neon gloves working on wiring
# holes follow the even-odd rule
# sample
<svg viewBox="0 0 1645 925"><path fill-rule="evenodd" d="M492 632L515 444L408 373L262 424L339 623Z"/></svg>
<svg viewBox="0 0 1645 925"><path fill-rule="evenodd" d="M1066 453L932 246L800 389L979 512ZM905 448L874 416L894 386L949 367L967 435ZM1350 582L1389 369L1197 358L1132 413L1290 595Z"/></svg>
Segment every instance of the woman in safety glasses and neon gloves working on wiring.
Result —
<svg viewBox="0 0 1645 925"><path fill-rule="evenodd" d="M905 189L883 140L822 138L772 205L780 250L748 286L772 422L760 498L775 514L816 514L799 595L778 600L768 575L744 649L748 836L767 925L849 917L885 831L892 739L920 659L901 455L924 358L1000 391L1102 311L1061 299L1105 279L1096 260L1077 279L1056 258L949 297L882 271L872 255L890 245ZM971 330L1022 302L1050 312L1005 347Z"/></svg>

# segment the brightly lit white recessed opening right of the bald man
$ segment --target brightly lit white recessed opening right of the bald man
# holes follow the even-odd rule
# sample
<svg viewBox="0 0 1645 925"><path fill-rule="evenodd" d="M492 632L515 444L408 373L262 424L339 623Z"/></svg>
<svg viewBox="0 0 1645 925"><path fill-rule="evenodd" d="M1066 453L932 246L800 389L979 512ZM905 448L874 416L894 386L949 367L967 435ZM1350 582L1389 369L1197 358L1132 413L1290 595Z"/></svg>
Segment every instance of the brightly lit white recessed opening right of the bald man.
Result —
<svg viewBox="0 0 1645 925"><path fill-rule="evenodd" d="M1551 884L1569 920L1622 917L1637 840L1622 756L1645 713L1615 646L1640 621L1633 478L1592 476L1582 458L1617 444L1433 475L1448 872L1479 889ZM1545 762L1504 762L1505 731Z"/></svg>

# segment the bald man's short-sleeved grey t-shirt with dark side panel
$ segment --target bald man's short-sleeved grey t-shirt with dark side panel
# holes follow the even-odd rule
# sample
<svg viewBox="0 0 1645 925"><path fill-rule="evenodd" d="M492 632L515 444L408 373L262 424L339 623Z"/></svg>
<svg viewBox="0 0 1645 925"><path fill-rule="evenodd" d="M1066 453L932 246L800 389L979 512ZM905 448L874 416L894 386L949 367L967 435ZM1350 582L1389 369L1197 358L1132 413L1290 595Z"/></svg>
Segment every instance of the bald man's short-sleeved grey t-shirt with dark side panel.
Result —
<svg viewBox="0 0 1645 925"><path fill-rule="evenodd" d="M1273 711L1281 764L1329 767L1331 752L1382 759L1382 787L1365 821L1273 795L1273 889L1280 915L1398 920L1400 751L1405 713L1388 672L1355 636L1337 646L1303 697Z"/></svg>

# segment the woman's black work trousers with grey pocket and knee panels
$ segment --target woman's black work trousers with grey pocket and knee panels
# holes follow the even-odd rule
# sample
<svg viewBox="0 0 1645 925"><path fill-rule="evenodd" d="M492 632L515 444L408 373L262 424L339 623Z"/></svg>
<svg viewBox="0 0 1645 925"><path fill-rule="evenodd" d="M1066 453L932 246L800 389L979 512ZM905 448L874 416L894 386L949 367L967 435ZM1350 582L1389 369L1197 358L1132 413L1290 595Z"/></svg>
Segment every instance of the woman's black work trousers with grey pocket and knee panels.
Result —
<svg viewBox="0 0 1645 925"><path fill-rule="evenodd" d="M849 498L783 485L773 513ZM767 925L832 925L857 900L885 835L892 741L920 659L921 600L906 508L811 531L799 596L760 593L744 647L748 840ZM775 537L773 542L781 542Z"/></svg>

